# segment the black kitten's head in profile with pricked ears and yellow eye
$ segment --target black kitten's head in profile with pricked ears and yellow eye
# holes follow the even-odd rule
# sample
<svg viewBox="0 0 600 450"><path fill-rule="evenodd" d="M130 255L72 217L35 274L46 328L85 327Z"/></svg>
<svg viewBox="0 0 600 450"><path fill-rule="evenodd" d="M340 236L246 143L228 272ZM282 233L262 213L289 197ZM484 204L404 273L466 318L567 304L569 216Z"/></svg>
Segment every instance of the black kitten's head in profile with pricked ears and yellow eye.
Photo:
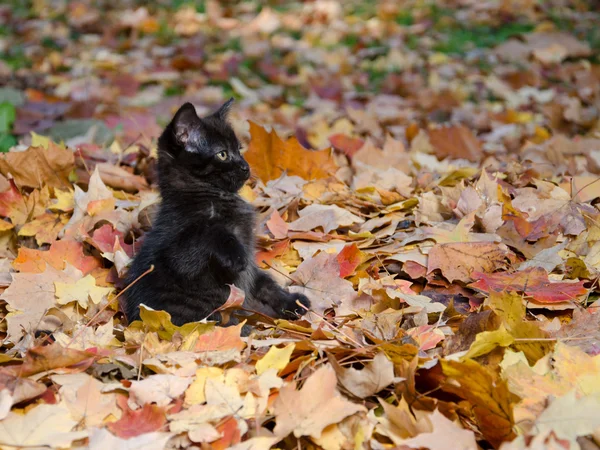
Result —
<svg viewBox="0 0 600 450"><path fill-rule="evenodd" d="M207 117L198 117L191 103L175 113L158 139L161 191L194 190L210 184L237 192L250 177L227 114L233 99Z"/></svg>

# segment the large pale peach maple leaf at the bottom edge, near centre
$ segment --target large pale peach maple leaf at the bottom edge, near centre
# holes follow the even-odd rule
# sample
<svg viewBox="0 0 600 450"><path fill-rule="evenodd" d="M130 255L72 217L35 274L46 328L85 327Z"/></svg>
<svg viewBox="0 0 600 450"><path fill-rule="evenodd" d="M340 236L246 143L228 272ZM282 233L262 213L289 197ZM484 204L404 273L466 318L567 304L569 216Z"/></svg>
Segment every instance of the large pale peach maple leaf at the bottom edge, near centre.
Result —
<svg viewBox="0 0 600 450"><path fill-rule="evenodd" d="M319 438L328 425L366 411L364 406L345 400L336 384L335 371L325 365L308 377L300 390L295 383L282 387L273 404L275 435L285 437L293 432L297 438Z"/></svg>

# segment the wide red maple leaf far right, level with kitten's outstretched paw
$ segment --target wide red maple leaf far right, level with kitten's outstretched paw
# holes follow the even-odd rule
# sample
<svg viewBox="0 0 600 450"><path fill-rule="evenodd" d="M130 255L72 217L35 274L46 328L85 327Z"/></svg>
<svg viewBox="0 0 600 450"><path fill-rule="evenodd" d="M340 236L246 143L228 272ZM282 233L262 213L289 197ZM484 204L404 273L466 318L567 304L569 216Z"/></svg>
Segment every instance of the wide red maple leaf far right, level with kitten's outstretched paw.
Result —
<svg viewBox="0 0 600 450"><path fill-rule="evenodd" d="M548 273L541 267L533 267L522 272L508 273L473 273L473 278L478 279L469 287L484 292L516 291L524 292L540 303L558 303L577 300L585 295L588 289L584 281L575 283L548 279Z"/></svg>

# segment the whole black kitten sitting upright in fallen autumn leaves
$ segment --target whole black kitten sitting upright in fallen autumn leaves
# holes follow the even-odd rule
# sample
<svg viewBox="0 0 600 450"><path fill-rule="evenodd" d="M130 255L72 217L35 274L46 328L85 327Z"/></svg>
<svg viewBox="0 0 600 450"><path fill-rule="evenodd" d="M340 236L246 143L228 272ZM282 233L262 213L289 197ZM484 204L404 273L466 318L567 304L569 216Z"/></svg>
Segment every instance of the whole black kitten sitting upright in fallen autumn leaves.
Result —
<svg viewBox="0 0 600 450"><path fill-rule="evenodd" d="M186 103L158 140L162 203L127 283L154 270L125 293L129 320L140 303L167 311L177 325L202 320L225 303L228 284L246 293L247 309L271 317L302 314L296 300L310 305L254 263L254 208L237 194L250 168L227 123L232 101L204 118Z"/></svg>

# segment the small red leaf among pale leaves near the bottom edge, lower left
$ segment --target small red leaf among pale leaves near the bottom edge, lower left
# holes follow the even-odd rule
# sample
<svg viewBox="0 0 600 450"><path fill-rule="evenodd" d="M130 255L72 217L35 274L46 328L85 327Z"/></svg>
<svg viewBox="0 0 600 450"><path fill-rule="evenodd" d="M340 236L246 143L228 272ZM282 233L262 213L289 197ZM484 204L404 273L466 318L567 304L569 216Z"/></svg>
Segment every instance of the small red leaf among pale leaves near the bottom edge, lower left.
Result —
<svg viewBox="0 0 600 450"><path fill-rule="evenodd" d="M108 424L108 429L123 439L129 439L140 434L158 431L167 423L165 409L146 403L138 410L132 410L127 405L127 397L119 395L117 405L123 410L123 415L116 422Z"/></svg>

